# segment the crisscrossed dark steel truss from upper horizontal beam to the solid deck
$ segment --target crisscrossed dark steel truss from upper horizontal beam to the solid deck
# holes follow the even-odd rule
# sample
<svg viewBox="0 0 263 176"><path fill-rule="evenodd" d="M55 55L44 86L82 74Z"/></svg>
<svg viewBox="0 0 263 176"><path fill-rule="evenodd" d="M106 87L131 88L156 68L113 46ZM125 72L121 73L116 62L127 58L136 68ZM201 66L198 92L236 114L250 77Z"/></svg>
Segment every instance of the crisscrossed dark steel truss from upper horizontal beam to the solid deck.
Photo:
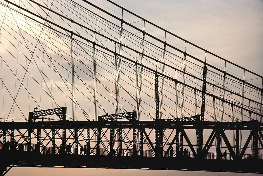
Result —
<svg viewBox="0 0 263 176"><path fill-rule="evenodd" d="M129 116L130 114L131 116ZM127 120L127 121L115 121L114 118L128 118L134 115L135 120ZM198 116L199 117L199 116ZM104 116L104 119L100 121L58 121L58 122L1 122L0 123L0 149L1 151L8 152L17 152L24 151L34 152L43 154L51 151L51 155L53 156L53 160L65 155L65 146L58 146L59 143L62 143L63 137L61 136L61 129L66 129L67 137L65 139L65 143L73 142L71 144L70 153L75 154L76 156L80 156L80 146L85 143L87 144L86 156L89 157L100 157L105 156L110 159L110 157L120 157L120 156L133 156L137 157L157 157L157 158L167 158L169 156L170 149L175 145L176 139L179 138L179 133L181 133L186 140L186 147L191 150L191 158L195 158L196 160L203 160L207 158L208 153L211 155L209 150L211 149L212 144L217 140L216 146L216 158L217 160L222 160L222 156L220 153L220 147L223 144L220 142L221 138L226 145L227 150L229 151L228 159L232 159L233 161L241 162L247 156L245 155L245 151L248 149L248 144L251 140L253 140L253 155L252 158L254 160L258 160L259 158L259 148L263 149L263 123L258 122L256 120L246 121L246 122L202 122L200 120L195 121L179 121L179 120L159 120L159 121L139 121L136 120L136 112L130 112L126 114L120 114L120 116L116 115L108 115L108 117ZM98 118L102 119L102 117ZM109 120L110 119L110 120ZM199 119L199 118L197 118ZM202 127L202 130L212 130L207 140L205 140L205 145L202 145L202 156L197 156L197 150L195 149L195 144L191 142L191 137L189 136L189 130L196 130ZM167 139L162 139L162 155L156 156L156 146L155 135L151 134L152 129L163 129L163 132L167 132L169 130L177 129L178 133L171 133ZM36 143L29 143L28 137L25 136L28 129L32 129L32 137ZM111 134L110 129L117 129L116 134ZM149 132L149 130L151 130ZM234 150L234 147L240 148L240 146L231 146L229 142L229 138L226 133L229 130L236 131L236 144L239 144L239 132L240 130L248 131L249 135L245 139L246 142L243 146L241 146L242 150L239 153L239 150ZM134 131L135 138L134 138ZM42 136L39 138L39 134ZM139 144L139 150L136 150L136 135L140 134L142 138L142 143ZM187 134L188 133L188 134ZM113 135L108 139L108 136ZM19 137L18 137L19 136ZM97 140L95 139L97 136ZM117 147L113 148L111 146L112 142L114 142L114 137L118 136L116 142L118 142ZM13 141L14 146L7 150L6 146L6 137L10 137L11 142ZM132 139L129 139L132 137ZM258 145L259 144L259 145ZM21 146L23 148L21 149ZM30 148L28 148L30 146ZM148 150L142 150L142 146L147 146ZM90 148L90 150L89 150ZM145 147L146 148L146 147ZM51 150L50 150L51 149ZM235 152L236 151L236 152ZM23 152L22 152L23 153ZM190 152L189 152L190 153ZM84 154L84 153L83 153ZM181 155L175 155L175 158L181 158ZM19 156L18 156L19 158ZM16 158L16 161L19 159ZM208 157L211 159L211 156ZM17 160L18 159L18 160ZM107 159L107 158L105 158ZM263 157L260 158L260 162ZM133 159L131 159L133 160ZM14 164L14 161L5 160L8 164ZM22 162L22 161L20 161ZM23 162L22 162L23 163ZM169 165L169 164L167 164ZM25 166L25 165L23 165ZM30 164L27 163L27 166ZM53 166L49 166L53 167ZM96 166L95 166L96 167ZM155 166L156 167L156 166ZM158 169L158 168L155 168Z"/></svg>

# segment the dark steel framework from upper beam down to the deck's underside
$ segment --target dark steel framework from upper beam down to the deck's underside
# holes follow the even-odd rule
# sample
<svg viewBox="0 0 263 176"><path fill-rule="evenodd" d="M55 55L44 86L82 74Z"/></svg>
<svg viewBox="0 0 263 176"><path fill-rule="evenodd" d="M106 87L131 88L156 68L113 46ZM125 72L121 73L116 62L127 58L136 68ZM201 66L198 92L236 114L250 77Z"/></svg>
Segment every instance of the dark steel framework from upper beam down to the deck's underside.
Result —
<svg viewBox="0 0 263 176"><path fill-rule="evenodd" d="M128 120L128 121L115 121L113 119L117 118L126 118L126 119L131 119L131 117L134 118L134 120ZM168 168L172 170L180 170L180 169L189 169L189 170L214 170L218 171L217 169L220 170L225 170L228 171L230 168L232 168L231 172L259 172L262 173L262 157L259 156L258 154L258 144L263 148L263 143L262 143L262 130L263 130L263 124L261 122L258 122L256 120L253 121L246 121L246 122L202 122L199 120L195 121L179 121L179 120L160 120L160 121L139 121L135 120L136 118L136 112L129 112L126 114L113 114L113 115L107 115L107 116L99 116L98 119L105 119L105 120L99 120L99 121L67 121L67 120L61 120L58 122L44 122L44 121L39 121L39 122L1 122L0 123L0 144L1 144L1 150L0 150L0 155L1 156L6 156L6 152L10 154L11 157L2 157L3 159L1 160L2 164L4 164L5 167L9 167L10 165L16 165L17 167L27 167L27 166L34 166L34 165L39 165L40 167L54 167L56 165L62 165L63 167L81 167L81 166L86 166L86 167L95 167L95 168L101 168L102 166L100 164L98 165L91 165L91 163L86 162L86 160L92 159L94 162L98 160L100 157L103 157L103 167L110 167L112 163L110 164L110 161L104 161L104 160L115 160L116 165L114 168L123 168L123 166L120 164L121 161L123 162L123 159L127 159L130 161L138 160L139 158L142 158L143 161L149 161L151 164L148 164L148 168L154 168L154 169L163 169L163 168ZM198 118L197 118L198 119ZM29 128L30 127L30 128ZM196 166L193 169L192 165L188 165L188 168L186 165L181 165L181 167L178 167L177 163L179 162L179 158L182 158L182 156L176 154L174 158L167 157L169 156L169 151L171 147L174 145L174 142L176 139L179 138L179 133L176 133L172 139L171 142L166 141L165 145L162 146L162 150L164 150L163 155L160 155L160 153L156 153L156 141L152 141L152 137L147 134L146 130L149 129L156 129L158 127L159 129L169 130L169 129L177 129L179 132L182 133L184 139L187 142L187 146L191 149L191 157L189 158L184 158L182 161L186 160L186 162L200 162L204 163L207 161L214 162L213 159L211 158L211 153L209 152L212 143L214 140L217 140L217 152L215 154L216 158L214 158L217 161L217 164L221 164L220 167L214 166L214 168L209 168L211 165L199 165L198 167ZM193 143L191 142L191 139L189 138L188 132L189 130L196 130L198 128L202 130L212 130L210 133L208 139L205 142L205 145L202 146L201 153L198 155L197 150L195 150ZM41 142L40 146L42 150L36 150L37 145L33 143L29 143L28 137L25 135L21 135L20 137L15 137L15 134L22 134L26 133L28 129L36 129L37 132L41 131L46 134L46 136L41 137ZM71 155L65 155L65 153L57 146L57 144L60 141L63 141L63 137L59 134L59 131L61 129L66 129L67 132L69 132L68 137L66 138L66 142L70 141L73 139L75 145L73 147L72 153L76 155L76 157L79 157L79 161L76 161L76 163L72 164L69 162L69 158L71 158ZM107 131L110 129L117 129L117 133L113 134L118 135L118 145L116 148L113 148L111 144L114 142L112 139L113 137L110 137L110 141L108 140L103 140L103 137L105 137L108 133ZM25 131L26 130L26 131ZM97 135L97 140L94 143L94 140L89 138L90 136L90 130L94 132L94 134ZM136 131L140 132L140 135L143 138L143 143L138 144L136 143L136 135L133 136L132 140L124 142L124 138L129 135L129 131ZM242 146L242 150L239 153L239 150L236 150L234 152L234 147L231 146L229 142L229 138L226 135L227 131L235 130L236 131L236 144L239 144L239 139L238 139L238 134L240 130L243 131L248 131L249 135L248 138L246 139L245 144ZM84 132L87 131L87 137L84 136ZM50 133L51 136L50 136ZM101 134L99 134L101 133ZM132 132L133 135L134 132ZM32 130L32 134L35 134L35 130ZM74 134L76 134L74 136ZM125 135L123 138L122 135ZM9 135L11 138L11 143L14 142L13 148L10 148L7 150L5 148L6 146L6 135ZM37 136L37 135L36 135ZM227 160L222 160L222 156L220 153L220 147L222 146L221 138L223 139L227 150L229 151L228 154L228 159ZM91 147L91 151L87 151L85 161L82 160L82 157L80 155L80 145L81 141L86 141L87 144L93 144L93 147ZM127 138L126 138L127 139ZM253 140L253 155L251 158L244 157L245 151L248 149L248 144L250 140ZM21 142L22 141L22 142ZM44 141L48 141L47 144L44 144ZM103 142L102 142L103 141ZM141 141L141 139L139 140ZM39 139L37 139L37 142L39 142ZM51 155L46 154L49 159L47 159L50 163L42 163L38 161L37 158L32 158L30 160L28 157L29 155L31 156L31 152L34 153L34 155L39 156L39 158L42 158L45 156L43 152L45 151L46 148L49 148L48 144L51 142ZM102 142L102 143L101 143ZM150 151L148 151L148 155L146 153L141 153L143 151L141 146L145 143L148 143L152 148L150 148ZM103 148L101 148L101 144L103 145ZM124 148L122 148L122 144L125 144L127 149L125 150L131 150L132 153L131 155L125 155L124 156ZM137 151L136 150L136 145L139 145L140 148ZM155 144L155 147L153 147L153 144ZM21 150L20 146L31 146L27 151ZM87 145L88 146L88 145ZM97 146L97 151L94 149ZM110 146L110 149L108 150L108 147ZM235 146L236 148L239 148L240 146ZM88 148L88 147L87 147ZM38 147L39 149L39 147ZM149 155L150 153L153 153L152 155ZM190 152L189 152L190 153ZM14 154L14 155L13 155ZM21 156L25 157L26 159L22 159ZM128 158L127 158L128 156ZM61 157L67 158L65 161L60 161ZM123 158L124 157L124 158ZM129 158L131 157L131 158ZM160 161L167 162L167 163L162 163L160 167L156 166L156 163L152 163L153 158L160 158ZM261 158L259 158L261 157ZM137 158L137 159L136 159ZM245 158L245 159L244 159ZM77 158L75 158L77 159ZM74 160L75 160L74 159ZM171 165L169 162L170 160L173 159L175 163ZM211 160L212 159L212 160ZM53 162L54 161L60 161L60 163ZM141 160L141 159L139 159ZM243 168L243 164L246 163L246 161L250 161L252 163L255 162L255 165L252 167L251 165L248 165L246 168ZM30 162L32 161L32 162ZM157 162L157 161L156 161ZM139 165L141 162L123 162L122 164L125 165L125 167L128 168L144 168L145 165ZM158 163L158 162L157 162ZM225 163L228 163L228 165L225 165ZM240 165L238 165L238 163ZM69 165L68 165L69 164ZM208 167L209 166L209 167Z"/></svg>

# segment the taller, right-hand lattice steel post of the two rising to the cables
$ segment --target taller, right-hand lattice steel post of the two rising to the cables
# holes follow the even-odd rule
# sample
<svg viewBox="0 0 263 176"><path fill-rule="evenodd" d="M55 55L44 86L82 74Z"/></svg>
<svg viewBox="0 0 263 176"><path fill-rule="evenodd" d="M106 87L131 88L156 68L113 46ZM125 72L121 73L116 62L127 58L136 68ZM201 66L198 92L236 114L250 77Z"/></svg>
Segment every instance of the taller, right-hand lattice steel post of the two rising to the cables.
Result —
<svg viewBox="0 0 263 176"><path fill-rule="evenodd" d="M205 53L206 54L206 53ZM205 89L206 89L206 73L207 73L207 66L206 62L203 69L203 87L202 87L202 103L201 103L201 119L200 121L203 122L205 118ZM203 126L200 124L200 128L196 130L196 151L197 156L202 157L203 153Z"/></svg>

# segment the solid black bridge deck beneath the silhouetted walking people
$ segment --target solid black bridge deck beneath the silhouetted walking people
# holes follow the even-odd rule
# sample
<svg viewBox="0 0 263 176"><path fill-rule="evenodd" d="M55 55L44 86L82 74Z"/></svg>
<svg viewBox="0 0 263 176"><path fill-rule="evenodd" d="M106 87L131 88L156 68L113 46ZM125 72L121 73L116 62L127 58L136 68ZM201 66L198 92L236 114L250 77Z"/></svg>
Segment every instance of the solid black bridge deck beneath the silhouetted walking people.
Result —
<svg viewBox="0 0 263 176"><path fill-rule="evenodd" d="M263 173L263 160L242 159L241 161L196 159L184 157L139 157L37 154L28 151L0 150L1 165L4 167L65 167L65 168L126 168L202 170L224 172Z"/></svg>

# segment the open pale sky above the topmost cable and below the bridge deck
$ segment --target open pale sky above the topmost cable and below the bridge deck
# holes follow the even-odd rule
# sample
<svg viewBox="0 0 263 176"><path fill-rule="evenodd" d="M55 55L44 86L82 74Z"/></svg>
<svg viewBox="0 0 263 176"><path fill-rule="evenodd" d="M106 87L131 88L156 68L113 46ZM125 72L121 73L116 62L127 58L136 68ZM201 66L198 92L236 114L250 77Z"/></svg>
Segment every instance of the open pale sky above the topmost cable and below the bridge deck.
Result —
<svg viewBox="0 0 263 176"><path fill-rule="evenodd" d="M259 75L263 75L263 1L122 0L114 2L179 37ZM229 173L218 172L83 168L12 168L6 175L18 174L229 175Z"/></svg>

